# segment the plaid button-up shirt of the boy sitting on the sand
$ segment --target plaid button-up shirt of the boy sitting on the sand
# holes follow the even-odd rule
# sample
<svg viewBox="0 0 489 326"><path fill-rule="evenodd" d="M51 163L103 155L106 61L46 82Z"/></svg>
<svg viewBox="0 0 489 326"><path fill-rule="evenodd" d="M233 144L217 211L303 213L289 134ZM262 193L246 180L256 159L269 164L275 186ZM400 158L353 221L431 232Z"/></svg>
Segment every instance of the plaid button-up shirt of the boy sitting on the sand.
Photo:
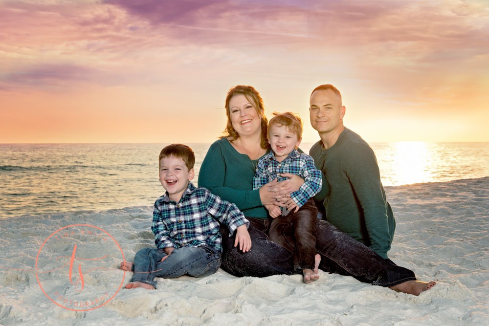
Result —
<svg viewBox="0 0 489 326"><path fill-rule="evenodd" d="M178 203L170 200L168 193L156 199L151 230L160 249L207 244L222 252L218 221L229 227L229 237L238 226L249 226L235 204L189 182Z"/></svg>

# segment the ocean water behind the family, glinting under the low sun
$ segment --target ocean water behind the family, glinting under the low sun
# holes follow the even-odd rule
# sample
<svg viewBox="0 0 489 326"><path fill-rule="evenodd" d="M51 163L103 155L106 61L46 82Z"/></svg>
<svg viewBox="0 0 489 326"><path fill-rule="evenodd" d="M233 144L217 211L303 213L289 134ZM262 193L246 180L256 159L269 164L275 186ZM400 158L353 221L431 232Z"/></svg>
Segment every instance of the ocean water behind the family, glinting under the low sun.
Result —
<svg viewBox="0 0 489 326"><path fill-rule="evenodd" d="M152 206L167 144L0 144L0 218ZM210 144L188 144L194 179ZM301 148L309 152L312 143ZM489 176L489 143L373 143L384 186Z"/></svg>

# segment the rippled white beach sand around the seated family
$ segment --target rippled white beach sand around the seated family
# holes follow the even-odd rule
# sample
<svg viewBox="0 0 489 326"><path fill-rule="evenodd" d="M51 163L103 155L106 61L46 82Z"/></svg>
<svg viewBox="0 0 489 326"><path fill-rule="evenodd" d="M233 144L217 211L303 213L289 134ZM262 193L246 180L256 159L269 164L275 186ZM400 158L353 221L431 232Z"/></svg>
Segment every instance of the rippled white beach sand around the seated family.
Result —
<svg viewBox="0 0 489 326"><path fill-rule="evenodd" d="M236 278L220 269L201 279L158 279L156 291L121 289L104 306L76 312L49 301L34 271L0 268L0 324L489 325L489 177L387 187L386 192L398 223L389 256L419 280L438 282L419 297L322 271L319 281L304 284L299 275ZM0 266L34 269L44 240L76 223L109 232L132 261L137 250L153 245L151 218L151 207L131 207L0 220ZM65 240L73 238L79 256L108 254L105 263L113 268L120 261L100 238ZM71 256L73 246L63 241L46 242L45 256L51 261ZM44 261L42 268L59 266ZM123 275L90 271L84 291L115 293ZM67 267L42 277L50 291L76 298ZM123 283L130 277L127 273Z"/></svg>

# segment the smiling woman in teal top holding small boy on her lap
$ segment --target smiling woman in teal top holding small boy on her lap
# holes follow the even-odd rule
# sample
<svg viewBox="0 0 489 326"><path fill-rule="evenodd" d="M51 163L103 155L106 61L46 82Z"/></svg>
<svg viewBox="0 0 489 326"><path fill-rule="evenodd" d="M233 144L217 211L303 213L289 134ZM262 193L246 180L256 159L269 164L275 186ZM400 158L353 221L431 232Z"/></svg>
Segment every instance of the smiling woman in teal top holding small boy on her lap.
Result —
<svg viewBox="0 0 489 326"><path fill-rule="evenodd" d="M277 200L288 200L287 195L297 191L304 180L284 174L290 179L252 190L257 161L270 150L263 100L253 87L238 85L228 91L225 109L227 134L209 148L200 168L199 186L238 206L250 221L252 247L249 252L240 252L222 228L221 267L236 276L294 274L292 255L267 238L269 223L264 205L280 205ZM412 271L384 260L327 221L317 220L314 236L316 252L321 255L319 268L324 271L414 295L436 284L416 281Z"/></svg>

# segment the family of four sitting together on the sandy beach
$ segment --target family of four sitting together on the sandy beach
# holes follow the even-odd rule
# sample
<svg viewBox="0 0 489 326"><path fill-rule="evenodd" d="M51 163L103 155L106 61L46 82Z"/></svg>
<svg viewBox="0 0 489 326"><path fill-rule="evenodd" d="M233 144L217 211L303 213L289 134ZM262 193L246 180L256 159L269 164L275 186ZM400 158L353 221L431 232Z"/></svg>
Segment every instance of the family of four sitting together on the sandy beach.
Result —
<svg viewBox="0 0 489 326"><path fill-rule="evenodd" d="M155 277L203 277L219 267L239 277L301 273L305 283L319 279L321 269L413 295L436 284L417 281L388 259L394 215L374 152L344 127L336 87L311 93L311 126L320 140L310 155L298 148L299 116L275 112L268 122L253 87L232 87L225 110L225 135L210 146L199 187L191 182L190 147L160 152L166 193L155 202L156 248L121 262L134 273L126 288L156 289Z"/></svg>

